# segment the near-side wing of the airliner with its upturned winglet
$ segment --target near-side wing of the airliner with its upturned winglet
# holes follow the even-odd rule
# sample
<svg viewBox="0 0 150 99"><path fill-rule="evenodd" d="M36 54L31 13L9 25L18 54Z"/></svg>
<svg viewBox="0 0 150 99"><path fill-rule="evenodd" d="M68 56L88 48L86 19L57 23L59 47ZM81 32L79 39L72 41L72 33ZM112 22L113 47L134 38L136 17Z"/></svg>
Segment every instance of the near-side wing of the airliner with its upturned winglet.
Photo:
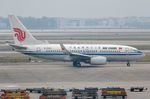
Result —
<svg viewBox="0 0 150 99"><path fill-rule="evenodd" d="M68 54L72 57L73 60L90 60L91 56L89 55L85 55L85 54L80 54L80 53L71 53L69 52L65 46L63 44L60 44L61 46L61 49L62 51L65 53L65 54Z"/></svg>

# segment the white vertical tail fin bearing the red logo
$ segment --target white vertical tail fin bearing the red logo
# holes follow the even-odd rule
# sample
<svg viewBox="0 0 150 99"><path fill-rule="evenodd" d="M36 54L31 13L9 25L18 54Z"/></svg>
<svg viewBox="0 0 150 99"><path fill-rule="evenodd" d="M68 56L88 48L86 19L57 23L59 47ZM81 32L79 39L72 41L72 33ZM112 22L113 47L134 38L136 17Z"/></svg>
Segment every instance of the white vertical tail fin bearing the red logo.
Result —
<svg viewBox="0 0 150 99"><path fill-rule="evenodd" d="M11 31L13 33L14 43L16 45L32 45L43 43L42 41L35 39L16 16L9 15L8 18Z"/></svg>

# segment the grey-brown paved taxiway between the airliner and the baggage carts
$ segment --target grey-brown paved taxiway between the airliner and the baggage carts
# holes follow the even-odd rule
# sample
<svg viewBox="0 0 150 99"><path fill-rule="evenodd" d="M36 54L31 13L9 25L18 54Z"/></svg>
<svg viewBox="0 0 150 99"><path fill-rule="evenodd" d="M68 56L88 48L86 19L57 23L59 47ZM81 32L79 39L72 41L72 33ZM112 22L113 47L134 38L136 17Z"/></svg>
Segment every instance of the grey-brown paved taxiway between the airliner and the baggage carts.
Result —
<svg viewBox="0 0 150 99"><path fill-rule="evenodd" d="M150 89L149 63L72 67L71 63L1 63L0 88L84 88L144 86ZM149 99L149 93L129 93L128 99ZM37 95L31 95L36 99ZM68 98L70 99L70 98Z"/></svg>

